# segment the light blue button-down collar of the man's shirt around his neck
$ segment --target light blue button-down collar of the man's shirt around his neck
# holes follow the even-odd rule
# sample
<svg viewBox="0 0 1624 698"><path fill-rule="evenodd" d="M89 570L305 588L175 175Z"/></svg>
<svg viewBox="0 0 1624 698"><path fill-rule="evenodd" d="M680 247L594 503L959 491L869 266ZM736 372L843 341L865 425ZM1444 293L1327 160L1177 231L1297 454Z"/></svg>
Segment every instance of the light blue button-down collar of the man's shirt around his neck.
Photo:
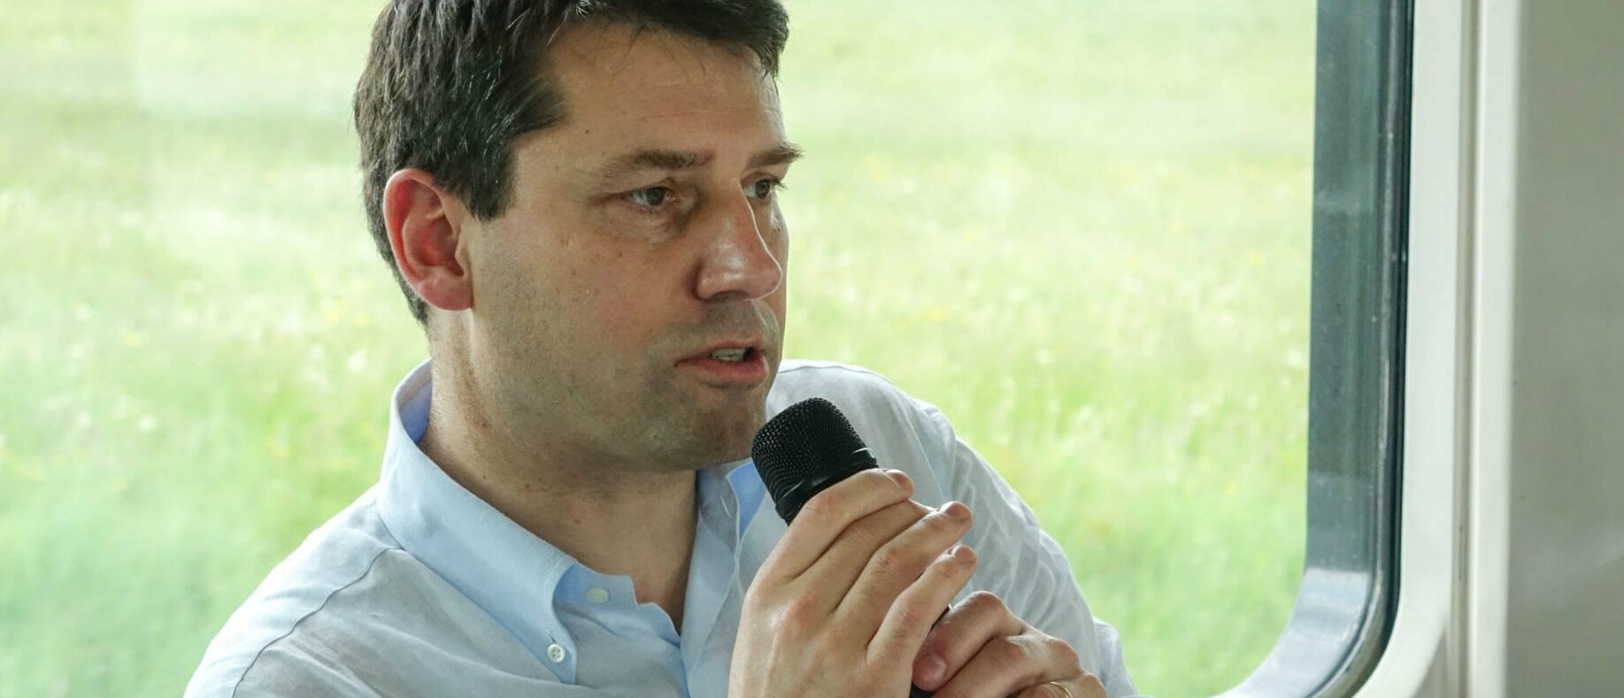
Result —
<svg viewBox="0 0 1624 698"><path fill-rule="evenodd" d="M406 552L573 683L577 646L554 601L565 575L586 568L468 492L417 448L429 427L430 365L424 360L406 375L390 401L378 515ZM744 459L702 469L697 487L700 523L728 521L724 541L737 555L737 541L765 497L755 464ZM567 661L547 661L552 644L565 649Z"/></svg>

